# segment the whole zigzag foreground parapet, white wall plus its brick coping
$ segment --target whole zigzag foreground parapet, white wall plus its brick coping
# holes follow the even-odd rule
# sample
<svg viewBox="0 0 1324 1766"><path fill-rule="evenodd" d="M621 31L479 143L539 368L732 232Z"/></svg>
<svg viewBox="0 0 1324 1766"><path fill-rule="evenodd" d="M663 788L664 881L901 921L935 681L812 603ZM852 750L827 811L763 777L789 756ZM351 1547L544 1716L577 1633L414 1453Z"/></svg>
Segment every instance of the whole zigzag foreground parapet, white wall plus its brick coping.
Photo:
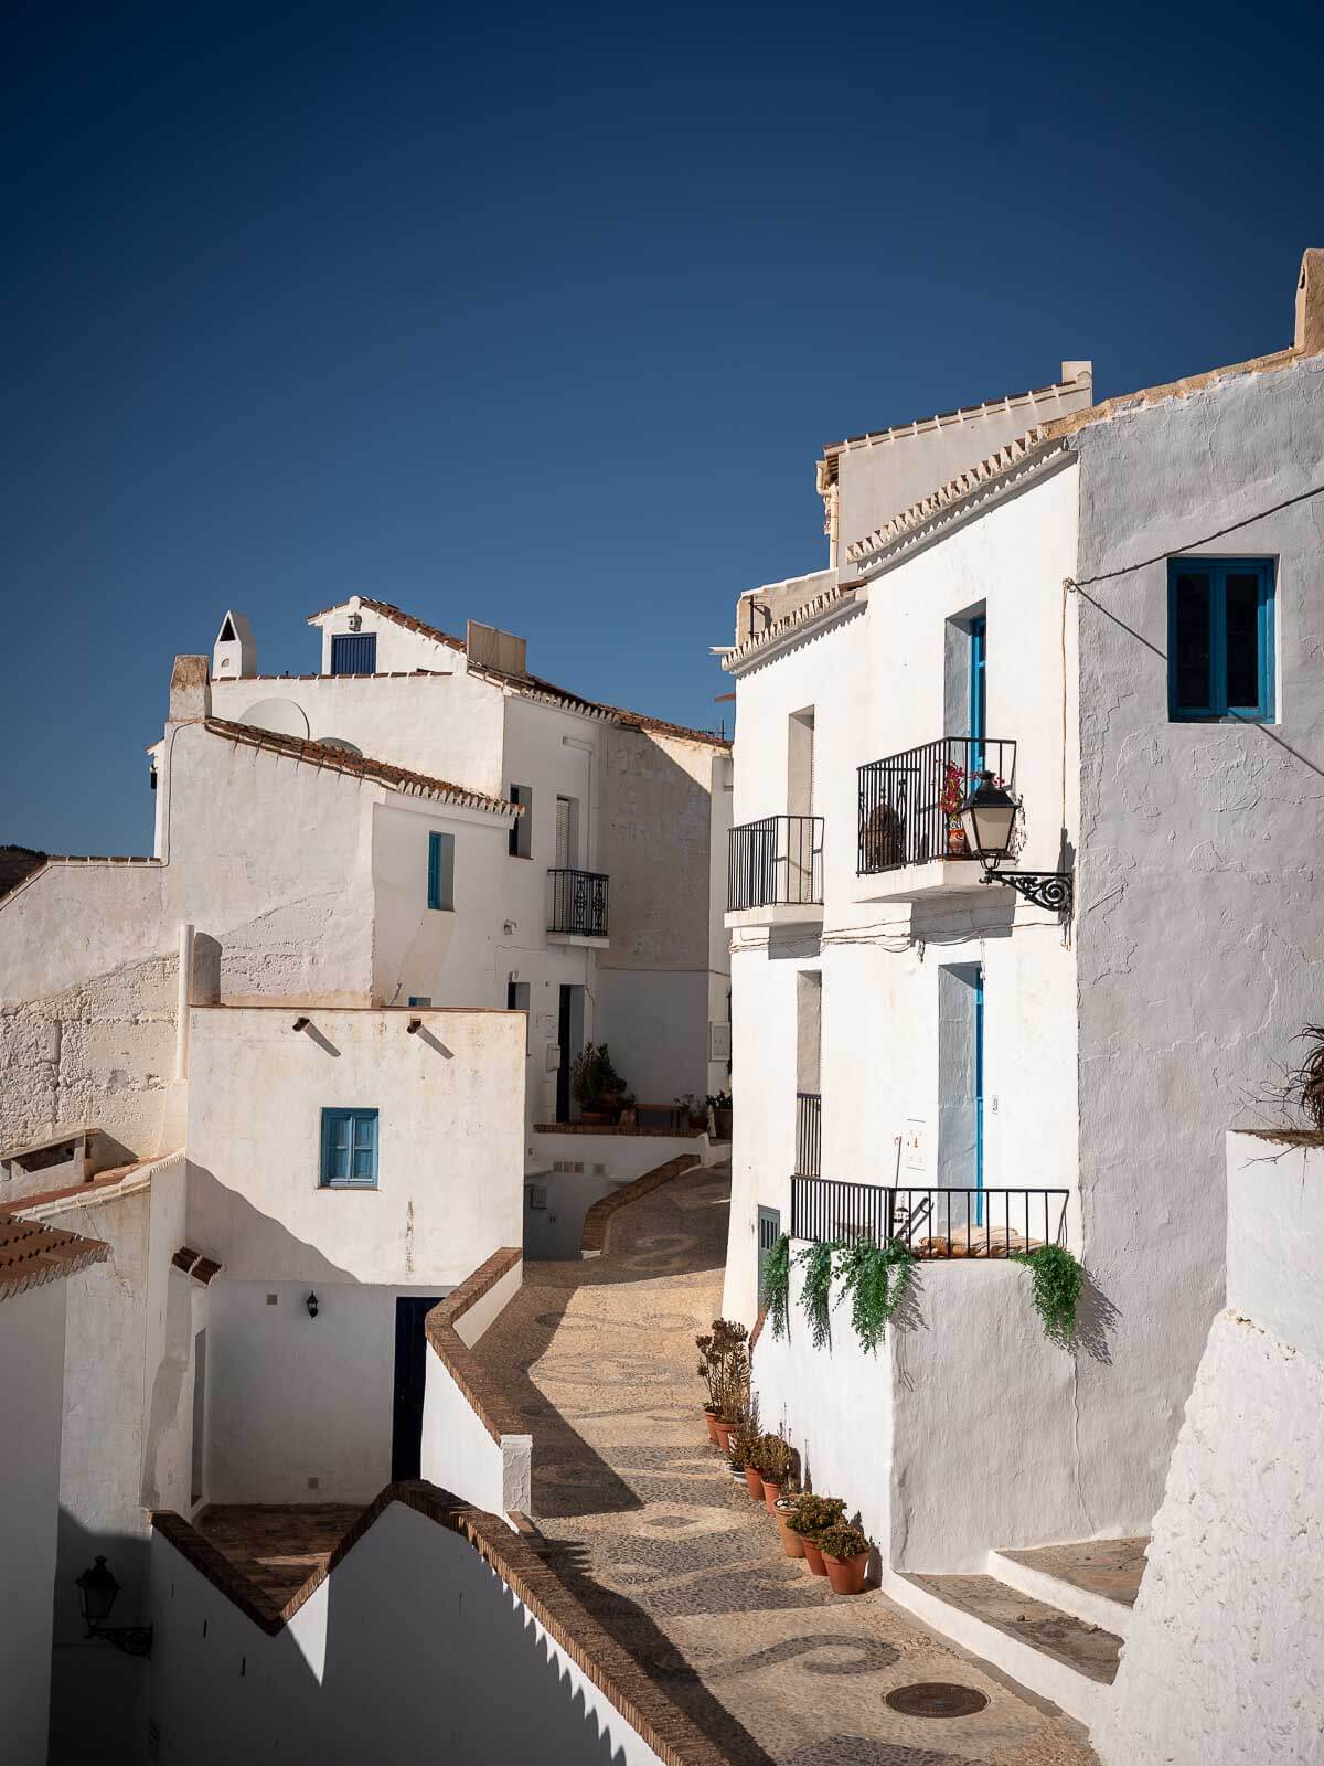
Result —
<svg viewBox="0 0 1324 1766"><path fill-rule="evenodd" d="M717 1766L688 1718L572 1596L544 1598L542 1581L530 1547L491 1515L447 1512L418 1492L387 1501L277 1616L178 1517L161 1517L150 1690L159 1755L191 1766L268 1759L274 1748L300 1766Z"/></svg>

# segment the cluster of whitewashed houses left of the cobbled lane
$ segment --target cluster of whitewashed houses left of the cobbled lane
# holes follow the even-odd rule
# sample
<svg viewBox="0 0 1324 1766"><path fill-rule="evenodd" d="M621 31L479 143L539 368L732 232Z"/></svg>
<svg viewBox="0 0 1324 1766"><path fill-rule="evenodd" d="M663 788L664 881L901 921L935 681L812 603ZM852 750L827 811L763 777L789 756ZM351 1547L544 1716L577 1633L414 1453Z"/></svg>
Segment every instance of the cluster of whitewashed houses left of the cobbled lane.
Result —
<svg viewBox="0 0 1324 1766"><path fill-rule="evenodd" d="M51 1351L58 1757L145 1727L143 1665L81 1634L94 1545L141 1612L152 1510L418 1475L424 1319L521 1245L584 1042L643 1102L726 1081L729 743L482 627L314 623L309 678L261 680L233 609L177 659L150 857L4 876L0 1208L108 1247Z"/></svg>

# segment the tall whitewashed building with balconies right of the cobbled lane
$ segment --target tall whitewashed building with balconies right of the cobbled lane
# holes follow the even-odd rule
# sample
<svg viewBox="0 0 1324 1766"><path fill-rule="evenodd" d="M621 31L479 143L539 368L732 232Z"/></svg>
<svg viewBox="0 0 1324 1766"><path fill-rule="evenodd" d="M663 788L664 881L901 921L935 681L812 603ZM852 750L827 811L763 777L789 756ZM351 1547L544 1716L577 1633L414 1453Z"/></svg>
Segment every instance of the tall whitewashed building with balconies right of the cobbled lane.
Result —
<svg viewBox="0 0 1324 1766"><path fill-rule="evenodd" d="M722 652L726 1310L752 1323L784 1231L971 1245L920 1264L922 1323L877 1358L840 1312L831 1355L764 1332L764 1423L860 1510L884 1586L1086 1718L1109 1676L953 1577L1149 1533L1222 1305L1223 1128L1319 1021L1322 351L1306 253L1290 348L1103 404L1068 362L830 449L830 567L741 595ZM982 768L1020 798L1026 894L952 828ZM1008 1226L1084 1261L1075 1353L980 1256Z"/></svg>

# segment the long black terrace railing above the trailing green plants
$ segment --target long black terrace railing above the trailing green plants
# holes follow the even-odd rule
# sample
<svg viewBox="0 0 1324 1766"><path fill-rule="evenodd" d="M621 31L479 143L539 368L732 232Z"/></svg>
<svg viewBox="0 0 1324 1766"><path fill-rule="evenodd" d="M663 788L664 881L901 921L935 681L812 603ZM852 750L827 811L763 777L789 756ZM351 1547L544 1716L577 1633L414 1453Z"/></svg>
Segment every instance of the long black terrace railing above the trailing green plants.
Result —
<svg viewBox="0 0 1324 1766"><path fill-rule="evenodd" d="M899 1238L916 1257L1004 1257L1064 1245L1066 1197L1066 1190L909 1190L794 1176L791 1238L819 1245Z"/></svg>

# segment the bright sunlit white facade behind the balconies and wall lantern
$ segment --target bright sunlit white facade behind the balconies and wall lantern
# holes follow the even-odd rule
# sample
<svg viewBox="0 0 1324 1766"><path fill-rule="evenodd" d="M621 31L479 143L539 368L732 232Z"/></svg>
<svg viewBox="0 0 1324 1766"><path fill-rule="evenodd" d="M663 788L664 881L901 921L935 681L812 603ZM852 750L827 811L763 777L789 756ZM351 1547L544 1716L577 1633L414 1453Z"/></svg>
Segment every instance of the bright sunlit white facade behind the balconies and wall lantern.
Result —
<svg viewBox="0 0 1324 1766"><path fill-rule="evenodd" d="M756 1310L756 1210L789 1224L796 1113L796 973L823 975L823 1174L937 1181L939 970L985 970L985 1185L1075 1189L1075 957L1056 917L1010 892L874 902L856 878L861 763L962 729L944 703L946 622L987 608L987 728L1019 743L1026 865L1057 865L1075 825L1075 563L1070 466L907 556L839 625L738 676L734 821L786 809L787 719L814 706L814 811L824 818L821 929L733 932L731 1243L724 1310ZM874 879L876 881L876 879ZM902 1164L918 1125L920 1155ZM973 1176L971 1180L973 1181ZM1079 1245L1072 1204L1070 1227Z"/></svg>

